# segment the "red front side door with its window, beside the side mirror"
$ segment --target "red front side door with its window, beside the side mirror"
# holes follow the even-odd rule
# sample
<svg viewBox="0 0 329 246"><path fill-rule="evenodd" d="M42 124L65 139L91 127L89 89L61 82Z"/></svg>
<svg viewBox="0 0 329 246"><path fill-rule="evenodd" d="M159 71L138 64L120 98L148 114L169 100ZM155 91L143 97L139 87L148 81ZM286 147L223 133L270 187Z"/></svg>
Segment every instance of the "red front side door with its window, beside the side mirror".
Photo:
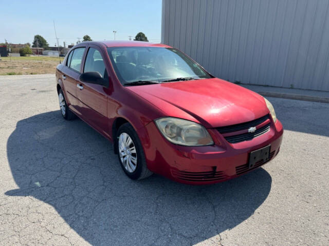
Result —
<svg viewBox="0 0 329 246"><path fill-rule="evenodd" d="M95 71L108 81L102 53L97 46L90 45L84 61L83 72ZM78 83L77 96L83 119L99 132L109 136L106 87L81 81Z"/></svg>

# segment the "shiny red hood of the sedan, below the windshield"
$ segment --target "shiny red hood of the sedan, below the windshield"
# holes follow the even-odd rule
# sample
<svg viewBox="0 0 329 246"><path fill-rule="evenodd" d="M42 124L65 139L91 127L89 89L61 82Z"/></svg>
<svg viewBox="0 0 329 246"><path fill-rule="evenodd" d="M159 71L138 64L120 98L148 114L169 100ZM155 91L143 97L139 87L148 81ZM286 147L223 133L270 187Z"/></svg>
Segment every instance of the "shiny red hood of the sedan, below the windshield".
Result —
<svg viewBox="0 0 329 246"><path fill-rule="evenodd" d="M218 78L126 88L159 108L163 116L193 120L207 128L239 124L269 113L261 95Z"/></svg>

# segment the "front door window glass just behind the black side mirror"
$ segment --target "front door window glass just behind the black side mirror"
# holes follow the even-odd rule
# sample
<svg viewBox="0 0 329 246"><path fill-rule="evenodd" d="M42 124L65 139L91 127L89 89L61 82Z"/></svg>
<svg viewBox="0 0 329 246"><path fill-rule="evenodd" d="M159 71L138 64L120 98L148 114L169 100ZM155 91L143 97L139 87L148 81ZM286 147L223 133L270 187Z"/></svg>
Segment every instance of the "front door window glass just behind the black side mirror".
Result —
<svg viewBox="0 0 329 246"><path fill-rule="evenodd" d="M103 78L105 77L105 64L98 50L89 48L83 72L99 72Z"/></svg>

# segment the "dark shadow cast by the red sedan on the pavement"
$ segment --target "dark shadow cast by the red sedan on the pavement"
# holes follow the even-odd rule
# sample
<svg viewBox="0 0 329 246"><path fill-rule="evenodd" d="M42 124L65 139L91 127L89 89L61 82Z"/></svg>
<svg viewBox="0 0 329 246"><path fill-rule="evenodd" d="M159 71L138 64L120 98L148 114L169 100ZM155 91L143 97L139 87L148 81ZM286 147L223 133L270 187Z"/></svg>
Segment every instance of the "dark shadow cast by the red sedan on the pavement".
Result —
<svg viewBox="0 0 329 246"><path fill-rule="evenodd" d="M246 220L271 189L262 168L211 186L130 180L110 142L59 111L17 122L7 155L19 189L5 194L50 204L93 245L194 244Z"/></svg>

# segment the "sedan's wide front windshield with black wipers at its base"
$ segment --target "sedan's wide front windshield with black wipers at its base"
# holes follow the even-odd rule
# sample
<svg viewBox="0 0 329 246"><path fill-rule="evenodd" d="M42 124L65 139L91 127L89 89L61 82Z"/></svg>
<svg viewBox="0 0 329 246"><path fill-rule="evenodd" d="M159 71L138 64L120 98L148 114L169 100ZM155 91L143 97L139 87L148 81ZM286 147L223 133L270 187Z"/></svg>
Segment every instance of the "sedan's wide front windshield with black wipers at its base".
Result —
<svg viewBox="0 0 329 246"><path fill-rule="evenodd" d="M112 47L107 48L107 52L124 85L212 78L193 60L173 48Z"/></svg>

